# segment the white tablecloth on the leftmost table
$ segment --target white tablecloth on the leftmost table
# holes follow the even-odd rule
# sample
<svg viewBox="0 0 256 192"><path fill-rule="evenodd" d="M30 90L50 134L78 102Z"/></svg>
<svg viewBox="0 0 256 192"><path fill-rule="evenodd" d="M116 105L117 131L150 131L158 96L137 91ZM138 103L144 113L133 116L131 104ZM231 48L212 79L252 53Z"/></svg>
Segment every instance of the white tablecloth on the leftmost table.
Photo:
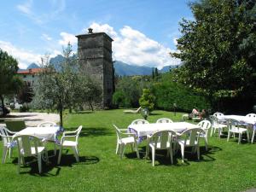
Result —
<svg viewBox="0 0 256 192"><path fill-rule="evenodd" d="M56 142L57 135L61 131L59 126L51 126L51 127L26 127L24 130L21 130L15 133L15 136L21 135L32 135L35 137L39 137L48 141Z"/></svg>

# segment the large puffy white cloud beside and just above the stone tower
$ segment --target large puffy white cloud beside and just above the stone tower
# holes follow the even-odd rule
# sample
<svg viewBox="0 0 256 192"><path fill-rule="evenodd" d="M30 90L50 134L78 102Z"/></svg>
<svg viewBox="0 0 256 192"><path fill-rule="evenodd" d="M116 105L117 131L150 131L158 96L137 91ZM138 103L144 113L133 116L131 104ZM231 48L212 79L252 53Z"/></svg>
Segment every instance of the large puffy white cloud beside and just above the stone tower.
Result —
<svg viewBox="0 0 256 192"><path fill-rule="evenodd" d="M148 38L142 32L132 29L131 26L124 26L119 32L115 32L108 24L101 25L94 22L90 27L94 32L106 32L113 38L115 60L158 68L180 63L180 60L170 56L170 52L174 50Z"/></svg>

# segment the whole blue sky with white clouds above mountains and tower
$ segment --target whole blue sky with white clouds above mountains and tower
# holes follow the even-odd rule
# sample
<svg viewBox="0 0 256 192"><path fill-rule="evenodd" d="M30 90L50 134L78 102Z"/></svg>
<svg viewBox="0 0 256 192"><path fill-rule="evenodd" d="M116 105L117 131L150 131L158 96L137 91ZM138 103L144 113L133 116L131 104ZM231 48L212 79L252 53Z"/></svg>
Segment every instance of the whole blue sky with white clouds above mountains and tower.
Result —
<svg viewBox="0 0 256 192"><path fill-rule="evenodd" d="M46 53L61 54L68 42L76 52L75 35L92 27L113 38L113 60L161 68L179 62L168 52L182 18L192 19L187 0L3 1L0 48L25 68Z"/></svg>

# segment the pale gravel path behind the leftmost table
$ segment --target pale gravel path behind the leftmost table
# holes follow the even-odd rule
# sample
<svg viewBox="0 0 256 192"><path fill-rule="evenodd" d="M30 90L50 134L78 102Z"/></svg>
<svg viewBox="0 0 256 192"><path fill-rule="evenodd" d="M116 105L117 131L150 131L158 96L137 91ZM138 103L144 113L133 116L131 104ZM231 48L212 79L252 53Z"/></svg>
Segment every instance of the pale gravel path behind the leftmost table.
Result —
<svg viewBox="0 0 256 192"><path fill-rule="evenodd" d="M43 121L53 121L58 123L60 121L59 114L56 113L9 113L4 119L23 119L25 120L26 126L37 126ZM3 124L2 122L0 124Z"/></svg>

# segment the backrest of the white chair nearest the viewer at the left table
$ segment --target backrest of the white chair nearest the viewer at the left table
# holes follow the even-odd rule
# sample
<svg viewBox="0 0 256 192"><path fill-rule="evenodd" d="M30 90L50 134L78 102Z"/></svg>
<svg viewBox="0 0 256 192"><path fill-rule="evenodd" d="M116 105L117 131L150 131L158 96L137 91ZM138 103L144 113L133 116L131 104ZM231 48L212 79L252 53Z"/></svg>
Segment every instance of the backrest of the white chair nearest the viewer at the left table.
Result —
<svg viewBox="0 0 256 192"><path fill-rule="evenodd" d="M32 147L35 148L35 154L38 154L38 147L41 146L41 140L31 135L22 135L14 137L17 142L18 153L22 156L32 156Z"/></svg>

